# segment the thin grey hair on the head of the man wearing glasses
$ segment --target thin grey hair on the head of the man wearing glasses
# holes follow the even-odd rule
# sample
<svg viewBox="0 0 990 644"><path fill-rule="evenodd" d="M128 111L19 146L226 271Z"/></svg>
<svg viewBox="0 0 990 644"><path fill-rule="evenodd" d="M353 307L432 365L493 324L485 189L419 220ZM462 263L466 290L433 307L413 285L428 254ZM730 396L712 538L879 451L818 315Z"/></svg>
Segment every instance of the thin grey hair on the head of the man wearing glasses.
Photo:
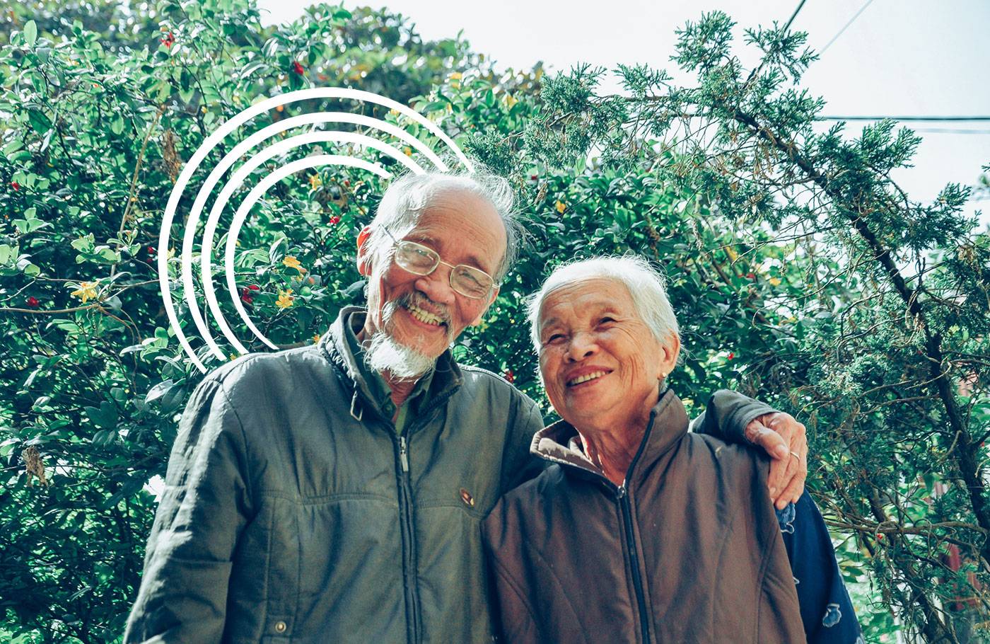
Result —
<svg viewBox="0 0 990 644"><path fill-rule="evenodd" d="M384 227L396 239L402 239L416 227L423 212L447 192L468 192L479 196L495 208L505 225L506 249L502 261L495 269L495 283L499 283L516 261L522 233L516 220L516 195L508 179L493 172L475 169L472 172L426 172L404 174L392 181L381 197L374 219L371 220L371 237L368 251L371 257L382 257L382 252L392 240L378 231Z"/></svg>

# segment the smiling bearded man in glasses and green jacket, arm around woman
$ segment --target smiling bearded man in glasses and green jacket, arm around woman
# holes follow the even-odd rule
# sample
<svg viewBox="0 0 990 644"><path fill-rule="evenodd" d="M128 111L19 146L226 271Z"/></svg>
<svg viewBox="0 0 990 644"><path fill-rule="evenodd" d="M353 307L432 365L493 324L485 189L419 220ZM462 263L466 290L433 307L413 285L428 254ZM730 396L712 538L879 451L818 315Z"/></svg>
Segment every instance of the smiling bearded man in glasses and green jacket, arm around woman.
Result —
<svg viewBox="0 0 990 644"><path fill-rule="evenodd" d="M491 641L480 522L539 474L543 418L448 347L512 264L511 194L483 174L396 180L357 238L366 310L196 387L127 642ZM780 458L779 500L796 497L803 426L717 399L706 426L755 431ZM785 469L799 470L786 489Z"/></svg>

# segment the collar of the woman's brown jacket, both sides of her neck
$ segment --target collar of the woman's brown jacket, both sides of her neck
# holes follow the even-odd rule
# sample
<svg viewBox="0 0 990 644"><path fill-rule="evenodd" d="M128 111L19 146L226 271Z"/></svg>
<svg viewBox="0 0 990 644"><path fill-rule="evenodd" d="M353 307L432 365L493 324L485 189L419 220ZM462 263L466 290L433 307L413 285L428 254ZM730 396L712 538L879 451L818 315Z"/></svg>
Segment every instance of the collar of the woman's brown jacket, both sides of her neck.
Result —
<svg viewBox="0 0 990 644"><path fill-rule="evenodd" d="M638 473L651 471L652 468L648 466L670 452L671 448L687 434L687 427L688 418L684 403L672 390L666 389L649 410L643 441L630 464L626 483L639 483L642 475L638 476ZM591 474L599 478L605 476L584 454L577 430L565 420L558 420L537 432L533 437L530 452L545 461L563 466L565 470Z"/></svg>

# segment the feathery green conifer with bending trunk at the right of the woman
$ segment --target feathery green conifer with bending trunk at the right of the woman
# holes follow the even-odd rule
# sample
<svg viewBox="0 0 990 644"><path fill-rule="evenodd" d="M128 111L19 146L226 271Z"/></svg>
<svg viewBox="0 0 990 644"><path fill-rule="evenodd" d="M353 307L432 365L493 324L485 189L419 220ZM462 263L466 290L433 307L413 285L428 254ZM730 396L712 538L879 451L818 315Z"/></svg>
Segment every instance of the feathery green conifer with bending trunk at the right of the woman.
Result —
<svg viewBox="0 0 990 644"><path fill-rule="evenodd" d="M714 13L678 31L673 59L693 86L621 67L632 97L611 127L590 115L617 97L589 87L587 68L554 78L521 153L566 165L611 150L666 190L709 197L708 223L735 227L753 266L783 270L763 301L733 289L745 344L766 338L769 352L747 357L741 386L808 419L812 485L849 537L843 570L876 589L868 634L893 627L889 607L909 635L968 641L990 581L990 241L962 213L970 188L912 201L890 172L911 161L914 133L823 132L824 102L798 87L815 59L804 35L747 31L762 58L744 70L733 28Z"/></svg>

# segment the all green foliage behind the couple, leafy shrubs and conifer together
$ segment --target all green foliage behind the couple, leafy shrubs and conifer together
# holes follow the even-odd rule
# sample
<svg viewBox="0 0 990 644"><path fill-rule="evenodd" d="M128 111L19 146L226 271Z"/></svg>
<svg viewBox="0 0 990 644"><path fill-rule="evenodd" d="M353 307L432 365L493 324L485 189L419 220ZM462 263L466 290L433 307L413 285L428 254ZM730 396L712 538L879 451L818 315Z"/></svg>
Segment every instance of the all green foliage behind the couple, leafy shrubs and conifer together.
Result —
<svg viewBox="0 0 990 644"><path fill-rule="evenodd" d="M147 483L163 474L200 378L160 304L161 253L182 301L181 216L175 246L156 248L164 204L219 124L311 86L410 104L517 186L528 247L458 359L542 400L525 295L560 261L640 253L668 277L685 348L672 383L689 405L733 386L809 425L811 483L868 640L903 627L964 641L966 620L985 619L988 237L961 215L968 188L924 204L889 178L917 150L910 131L815 125L824 101L799 87L815 59L803 34L746 31L762 54L746 70L733 22L706 15L678 32L674 61L694 84L621 66L627 92L615 96L597 89L602 69L496 73L463 41L424 42L384 11L318 5L262 28L247 0L39 1L2 20L0 638L122 632L153 517ZM352 109L293 104L251 131ZM396 113L373 114L429 138ZM190 187L247 134L222 142ZM262 172L313 152L267 161L231 204ZM375 151L349 152L395 169ZM276 345L312 342L361 299L354 237L380 193L377 177L341 166L268 190L237 238L225 319L238 319L238 297ZM213 245L218 287L225 244ZM190 317L180 306L201 348ZM248 350L268 350L234 326ZM219 364L205 349L200 358Z"/></svg>

